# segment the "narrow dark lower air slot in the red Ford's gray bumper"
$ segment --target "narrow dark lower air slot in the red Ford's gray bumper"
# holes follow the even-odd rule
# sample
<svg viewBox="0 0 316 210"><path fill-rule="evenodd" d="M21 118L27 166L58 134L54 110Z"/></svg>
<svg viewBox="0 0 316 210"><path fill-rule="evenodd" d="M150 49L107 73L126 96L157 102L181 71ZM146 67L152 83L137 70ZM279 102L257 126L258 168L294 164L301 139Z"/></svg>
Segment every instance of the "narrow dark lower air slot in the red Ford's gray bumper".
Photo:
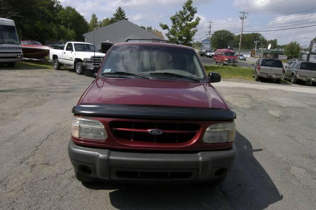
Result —
<svg viewBox="0 0 316 210"><path fill-rule="evenodd" d="M143 178L143 179L185 179L190 178L192 172L129 172L117 171L120 178Z"/></svg>

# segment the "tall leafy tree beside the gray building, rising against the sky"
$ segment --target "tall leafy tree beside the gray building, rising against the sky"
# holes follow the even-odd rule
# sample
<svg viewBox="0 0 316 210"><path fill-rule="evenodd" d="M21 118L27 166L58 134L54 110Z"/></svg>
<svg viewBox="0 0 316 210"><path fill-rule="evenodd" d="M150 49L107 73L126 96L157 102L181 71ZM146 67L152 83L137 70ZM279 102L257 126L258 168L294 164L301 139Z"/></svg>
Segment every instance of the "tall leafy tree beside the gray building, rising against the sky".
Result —
<svg viewBox="0 0 316 210"><path fill-rule="evenodd" d="M159 24L162 30L168 31L166 36L169 40L192 46L193 36L197 33L197 25L200 21L199 17L195 17L197 7L193 7L192 3L192 0L187 0L182 6L182 10L170 17L171 28L166 24Z"/></svg>

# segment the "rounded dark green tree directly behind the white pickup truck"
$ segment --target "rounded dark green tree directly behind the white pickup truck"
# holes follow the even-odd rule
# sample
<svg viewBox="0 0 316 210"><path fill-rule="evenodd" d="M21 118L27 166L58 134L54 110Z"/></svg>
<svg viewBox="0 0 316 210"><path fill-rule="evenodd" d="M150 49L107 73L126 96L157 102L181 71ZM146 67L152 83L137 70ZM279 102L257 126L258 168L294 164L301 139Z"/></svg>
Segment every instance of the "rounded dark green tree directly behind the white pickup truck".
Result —
<svg viewBox="0 0 316 210"><path fill-rule="evenodd" d="M75 37L73 37L72 39L66 39L66 37L64 37L65 40L84 40L84 37L82 35L88 32L89 26L84 17L80 15L76 9L70 6L64 7L59 11L57 17L60 24L64 26L69 31L69 33L70 31L72 31L71 36L73 36L73 33L75 33Z"/></svg>

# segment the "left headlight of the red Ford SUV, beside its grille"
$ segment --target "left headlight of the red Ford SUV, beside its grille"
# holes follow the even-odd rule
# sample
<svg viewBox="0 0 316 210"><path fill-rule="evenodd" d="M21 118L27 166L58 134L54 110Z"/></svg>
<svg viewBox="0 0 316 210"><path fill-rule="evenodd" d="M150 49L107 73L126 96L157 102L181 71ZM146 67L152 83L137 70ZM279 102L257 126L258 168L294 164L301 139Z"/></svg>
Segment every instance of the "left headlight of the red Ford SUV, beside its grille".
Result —
<svg viewBox="0 0 316 210"><path fill-rule="evenodd" d="M100 121L81 117L73 118L71 134L76 138L90 140L105 140L108 137L104 125Z"/></svg>

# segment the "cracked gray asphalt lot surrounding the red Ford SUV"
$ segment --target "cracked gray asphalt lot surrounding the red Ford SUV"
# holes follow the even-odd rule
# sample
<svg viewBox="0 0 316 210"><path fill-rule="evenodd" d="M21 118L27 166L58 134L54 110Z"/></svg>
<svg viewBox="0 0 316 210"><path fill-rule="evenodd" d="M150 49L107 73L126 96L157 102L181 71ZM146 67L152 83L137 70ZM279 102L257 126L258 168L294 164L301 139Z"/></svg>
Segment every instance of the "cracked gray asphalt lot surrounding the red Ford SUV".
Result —
<svg viewBox="0 0 316 210"><path fill-rule="evenodd" d="M71 109L91 78L0 66L0 209L316 209L316 88L225 80L236 164L220 186L82 184Z"/></svg>

